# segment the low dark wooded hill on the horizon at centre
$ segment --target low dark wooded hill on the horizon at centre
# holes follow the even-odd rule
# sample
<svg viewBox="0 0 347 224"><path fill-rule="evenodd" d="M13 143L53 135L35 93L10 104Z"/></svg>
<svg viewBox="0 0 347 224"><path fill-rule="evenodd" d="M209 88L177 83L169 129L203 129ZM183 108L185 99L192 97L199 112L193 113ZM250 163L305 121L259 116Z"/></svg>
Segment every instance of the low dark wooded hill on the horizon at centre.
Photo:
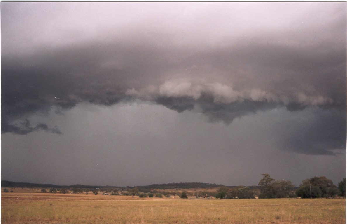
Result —
<svg viewBox="0 0 347 224"><path fill-rule="evenodd" d="M151 189L190 189L190 188L216 188L224 186L222 184L209 184L209 183L168 183L168 184L151 184L146 186L136 186L139 190L151 190Z"/></svg>

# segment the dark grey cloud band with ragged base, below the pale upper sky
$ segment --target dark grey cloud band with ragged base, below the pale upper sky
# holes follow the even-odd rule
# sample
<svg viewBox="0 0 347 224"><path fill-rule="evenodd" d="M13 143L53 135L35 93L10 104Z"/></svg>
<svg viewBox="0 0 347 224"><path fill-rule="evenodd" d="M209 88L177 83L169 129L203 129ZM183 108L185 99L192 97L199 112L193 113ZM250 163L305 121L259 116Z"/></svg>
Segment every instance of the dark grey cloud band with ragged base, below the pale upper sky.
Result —
<svg viewBox="0 0 347 224"><path fill-rule="evenodd" d="M165 60L165 57L172 57L170 54L156 57L163 52L160 50L150 52L154 60L147 60L149 49L138 52L130 47L119 49L118 45L112 46L114 50L108 50L106 56L101 53L109 48L79 46L15 59L2 56L2 133L46 131L61 134L59 127L30 125L28 116L44 115L52 108L61 113L85 101L110 106L140 99L179 113L186 110L202 113L210 122L226 124L235 118L279 107L286 107L293 113L317 108L328 112L324 116L316 114L315 123L303 122L288 138L283 138L278 147L323 155L345 149L346 95L345 86L341 84L345 83L346 62L340 59L344 55L340 50L316 56L319 58L317 67L311 65L312 70L305 66L288 70L288 64L297 63L294 50L288 53L289 61L277 61L273 66L263 68L263 61L251 58L248 58L249 65L238 65L232 53L227 60L226 52L233 52L232 46L223 52L205 52L206 56L197 57L200 52L194 52L185 59L177 56L171 60ZM247 54L238 53L238 57L247 59ZM107 62L104 61L110 60L112 55L116 58L123 55L126 59L119 67L109 67L117 64L105 65ZM174 55L181 54L177 50ZM307 58L302 56L302 60L309 60L311 55L314 52L306 53ZM336 60L332 61L331 57ZM220 64L216 65L218 58ZM321 63L325 63L324 58L331 65L320 69ZM163 65L166 67L161 67ZM262 69L256 71L256 67ZM245 74L245 81L240 81L240 71ZM214 75L208 78L209 73L218 78ZM287 126L290 124L283 124L283 129ZM305 132L301 133L303 128Z"/></svg>

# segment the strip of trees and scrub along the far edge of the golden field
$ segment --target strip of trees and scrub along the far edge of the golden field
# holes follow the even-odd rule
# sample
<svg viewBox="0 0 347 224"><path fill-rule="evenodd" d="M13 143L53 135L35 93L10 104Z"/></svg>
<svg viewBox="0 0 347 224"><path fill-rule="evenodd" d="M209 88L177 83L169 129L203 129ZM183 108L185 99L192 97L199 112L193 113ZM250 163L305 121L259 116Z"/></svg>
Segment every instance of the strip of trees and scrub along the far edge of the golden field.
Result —
<svg viewBox="0 0 347 224"><path fill-rule="evenodd" d="M3 183L3 181L1 181ZM4 181L6 183L6 181ZM8 182L7 182L8 184ZM16 182L10 182L9 185L16 185ZM22 186L24 183L20 183ZM321 177L311 177L302 181L302 184L297 189L294 189L294 185L290 181L286 180L275 180L271 178L269 174L262 174L262 179L259 181L258 186L233 186L227 187L220 184L204 184L204 183L171 183L171 184L152 184L140 187L109 187L106 188L96 188L97 186L92 186L93 188L82 188L83 186L89 185L70 185L70 187L52 187L50 184L36 184L37 186L48 186L50 189L42 188L41 192L49 193L86 193L92 192L93 194L98 194L103 192L103 194L110 195L128 195L128 196L138 196L138 197L170 197L170 196L180 196L185 198L187 196L195 196L197 198L209 198L215 197L220 199L252 199L256 196L260 199L262 198L332 198L336 196L346 197L346 178L339 182L338 186L335 186L331 180L325 176ZM17 186L17 185L16 185ZM58 185L54 185L58 186ZM153 189L149 189L152 186ZM163 188L159 190L158 188L162 186ZM217 192L211 191L195 191L195 192L180 192L180 191L167 191L165 189L188 189L188 188L213 188L219 186ZM12 188L11 188L12 189ZM15 188L13 188L15 189ZM22 188L23 189L23 188ZM3 192L9 192L9 190L4 189ZM11 190L12 192L12 190Z"/></svg>

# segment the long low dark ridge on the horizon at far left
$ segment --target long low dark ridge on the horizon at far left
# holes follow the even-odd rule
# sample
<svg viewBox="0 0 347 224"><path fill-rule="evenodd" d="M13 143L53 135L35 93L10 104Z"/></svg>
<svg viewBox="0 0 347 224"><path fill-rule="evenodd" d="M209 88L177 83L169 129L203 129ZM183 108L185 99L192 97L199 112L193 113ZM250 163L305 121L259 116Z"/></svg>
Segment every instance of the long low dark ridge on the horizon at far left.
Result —
<svg viewBox="0 0 347 224"><path fill-rule="evenodd" d="M1 187L3 188L121 188L118 186L100 186L100 185L55 185L55 184L35 184L35 183L23 183L12 181L1 181Z"/></svg>

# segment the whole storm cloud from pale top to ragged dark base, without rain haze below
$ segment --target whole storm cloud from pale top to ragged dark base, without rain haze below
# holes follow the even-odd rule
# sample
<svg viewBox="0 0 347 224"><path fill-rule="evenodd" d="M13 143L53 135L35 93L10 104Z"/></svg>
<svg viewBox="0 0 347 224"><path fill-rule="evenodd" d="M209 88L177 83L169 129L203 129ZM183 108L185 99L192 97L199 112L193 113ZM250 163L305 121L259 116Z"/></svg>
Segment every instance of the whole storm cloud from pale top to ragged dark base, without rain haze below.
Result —
<svg viewBox="0 0 347 224"><path fill-rule="evenodd" d="M28 116L83 101L111 106L138 98L226 124L283 106L292 113L319 107L325 111L316 115L319 122L282 139L279 148L304 154L345 148L345 4L283 4L289 8L2 3L2 133L60 133L30 125ZM335 135L327 134L328 123Z"/></svg>

